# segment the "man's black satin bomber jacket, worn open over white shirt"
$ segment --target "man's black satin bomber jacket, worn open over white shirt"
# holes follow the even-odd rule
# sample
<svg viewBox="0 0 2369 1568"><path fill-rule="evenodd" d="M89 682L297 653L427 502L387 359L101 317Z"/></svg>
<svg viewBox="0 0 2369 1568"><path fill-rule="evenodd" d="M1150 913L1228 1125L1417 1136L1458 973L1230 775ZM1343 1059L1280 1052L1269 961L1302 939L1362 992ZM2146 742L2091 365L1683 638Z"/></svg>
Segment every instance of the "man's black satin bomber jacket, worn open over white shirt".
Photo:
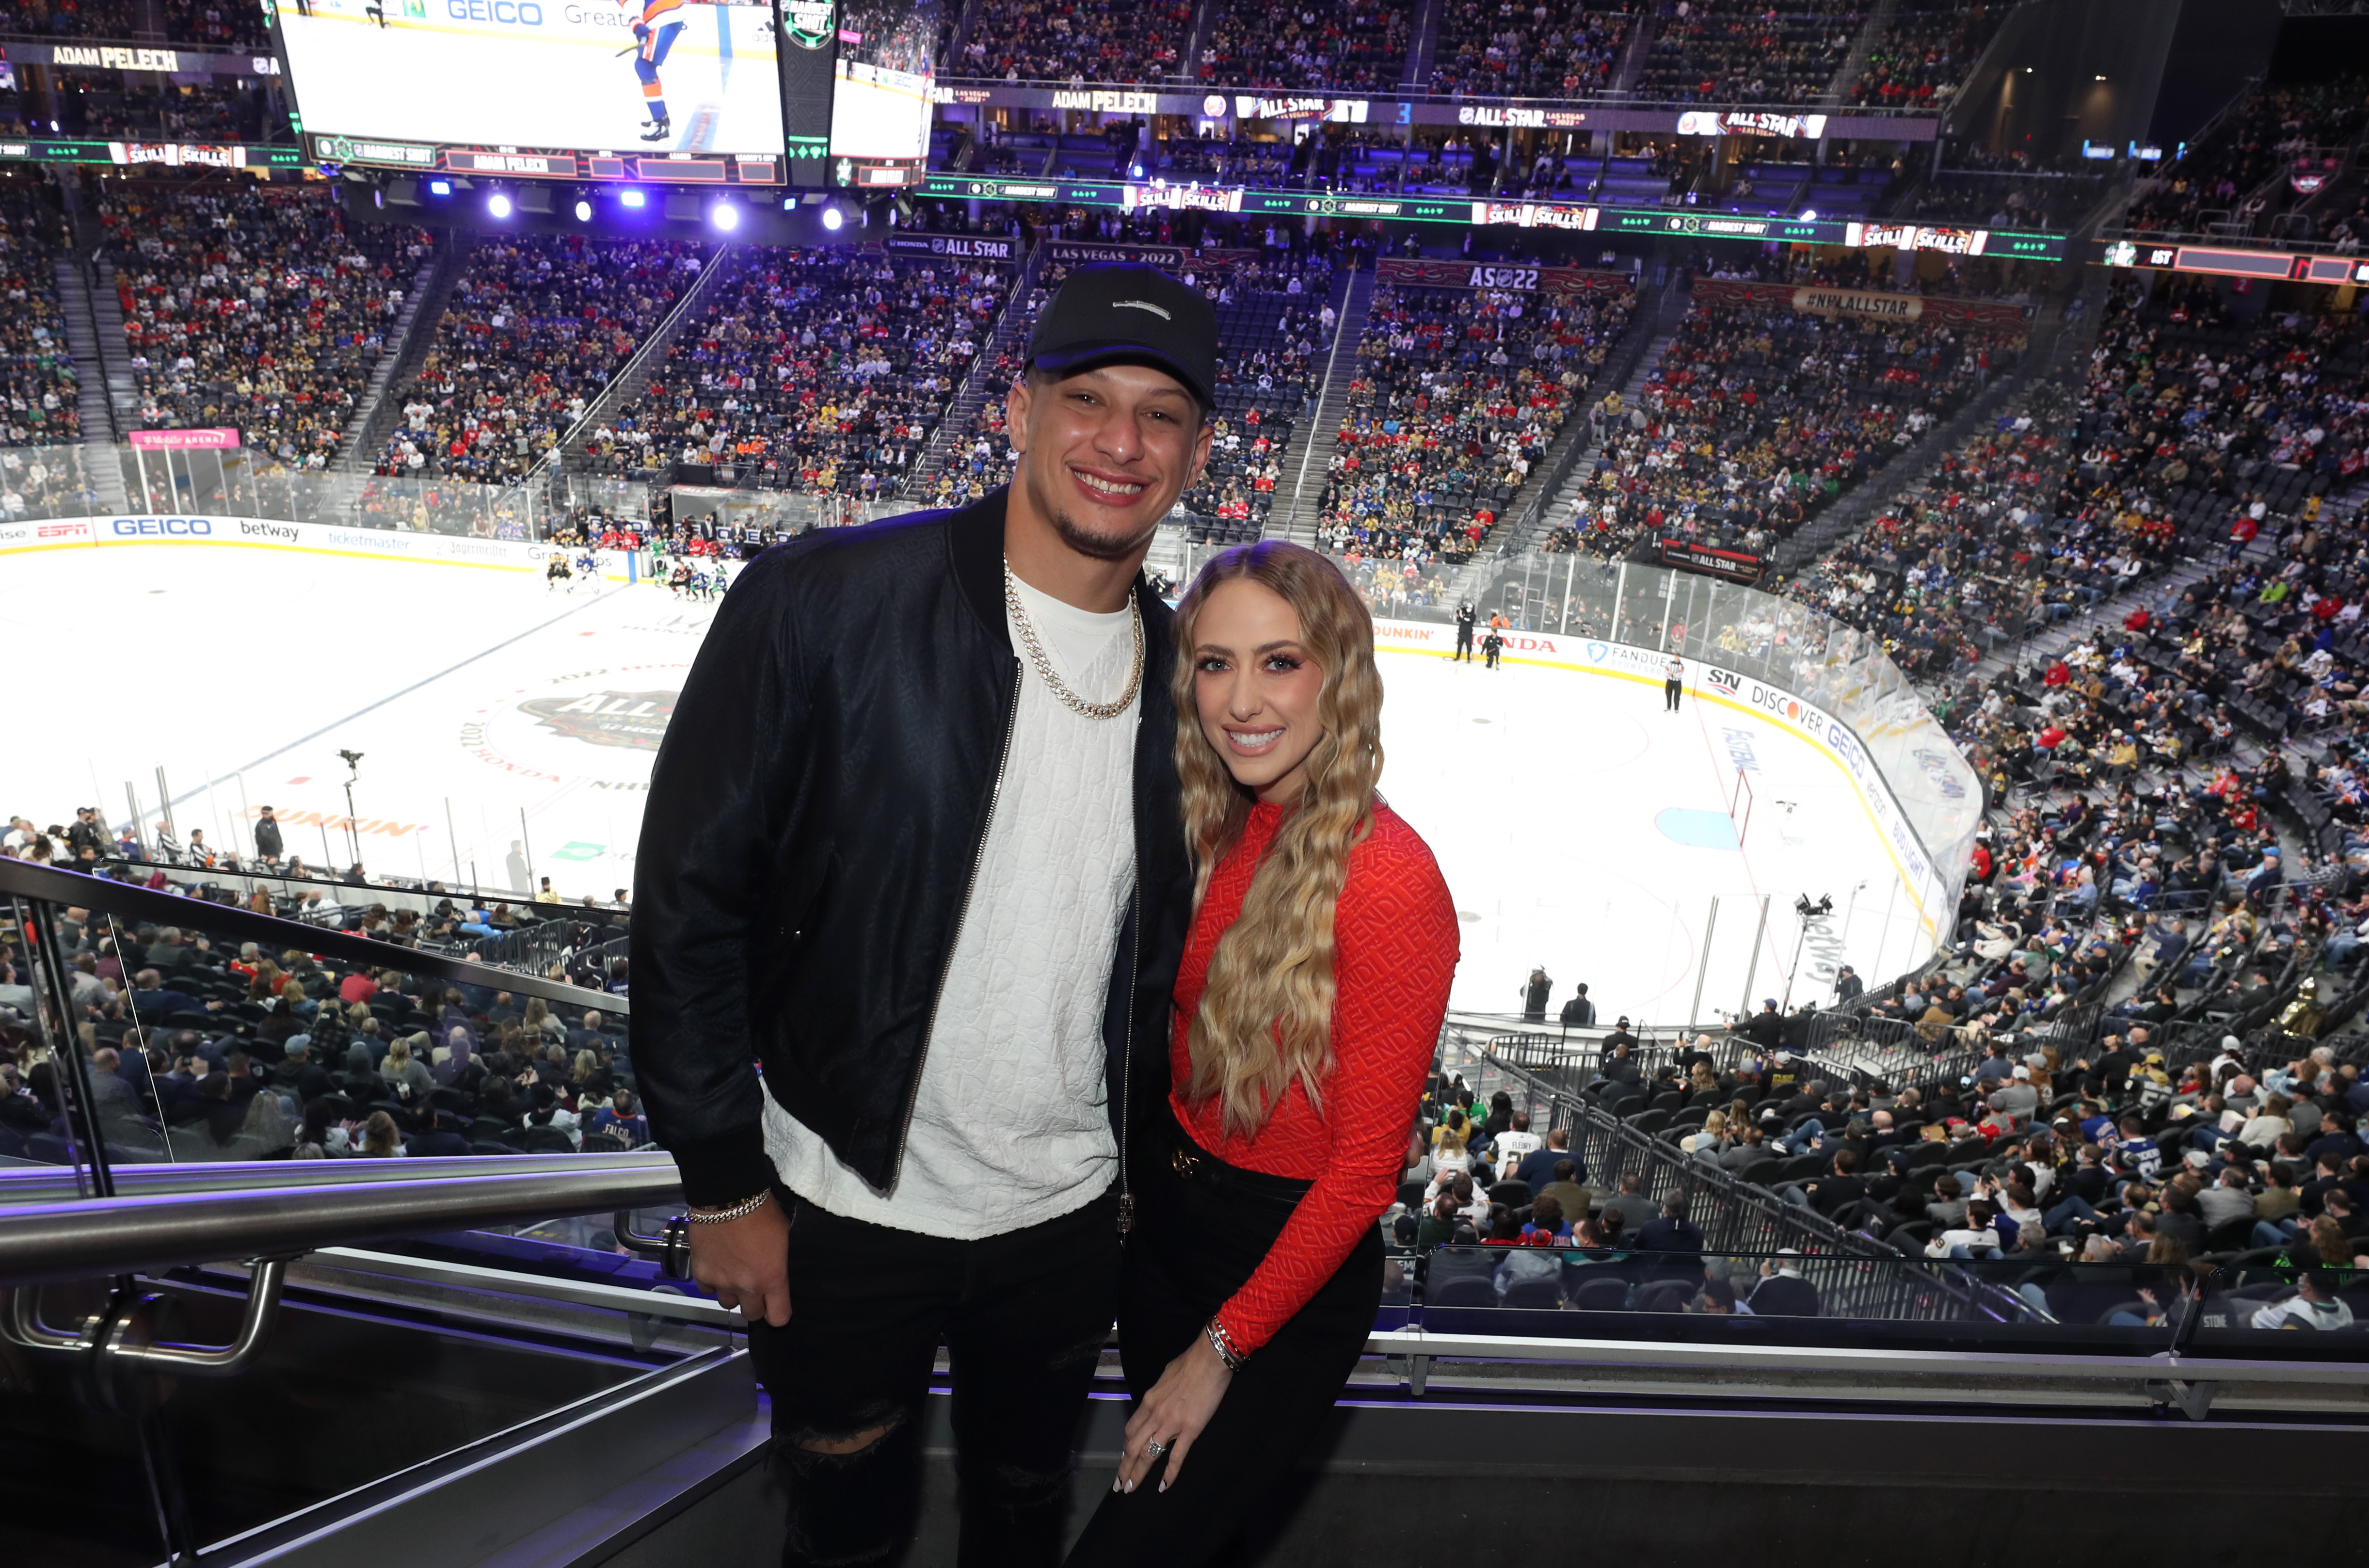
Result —
<svg viewBox="0 0 2369 1568"><path fill-rule="evenodd" d="M1019 694L1002 540L1002 490L824 528L751 561L715 611L651 772L633 898L635 1078L694 1206L775 1180L765 1090L867 1182L895 1182ZM1123 1156L1168 1094L1192 914L1173 616L1142 583L1137 604L1137 895L1104 1007Z"/></svg>

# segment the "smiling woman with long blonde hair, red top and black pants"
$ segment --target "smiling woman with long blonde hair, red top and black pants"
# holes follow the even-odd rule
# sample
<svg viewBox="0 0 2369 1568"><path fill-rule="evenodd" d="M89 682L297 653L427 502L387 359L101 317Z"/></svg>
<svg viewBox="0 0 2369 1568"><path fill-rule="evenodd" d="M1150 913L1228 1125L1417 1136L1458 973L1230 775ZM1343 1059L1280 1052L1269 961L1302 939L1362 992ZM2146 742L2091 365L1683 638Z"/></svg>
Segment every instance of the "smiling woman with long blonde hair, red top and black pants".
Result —
<svg viewBox="0 0 2369 1568"><path fill-rule="evenodd" d="M1130 1172L1137 1405L1071 1568L1211 1561L1331 1412L1457 964L1447 883L1374 796L1374 625L1341 573L1298 545L1220 552L1175 635L1199 895L1173 1120Z"/></svg>

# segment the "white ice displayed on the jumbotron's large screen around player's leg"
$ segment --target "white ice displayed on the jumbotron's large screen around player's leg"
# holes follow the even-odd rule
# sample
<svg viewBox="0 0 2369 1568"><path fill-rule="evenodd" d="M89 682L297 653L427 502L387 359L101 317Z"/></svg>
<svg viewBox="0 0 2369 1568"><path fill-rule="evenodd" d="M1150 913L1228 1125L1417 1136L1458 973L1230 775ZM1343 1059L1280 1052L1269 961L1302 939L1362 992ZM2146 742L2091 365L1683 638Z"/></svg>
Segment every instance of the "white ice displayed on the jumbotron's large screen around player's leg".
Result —
<svg viewBox="0 0 2369 1568"><path fill-rule="evenodd" d="M313 0L280 19L306 130L481 147L642 152L633 14L604 5ZM429 7L419 7L429 9ZM528 21L531 17L531 21ZM661 152L782 154L772 9L685 5L659 71L673 137Z"/></svg>

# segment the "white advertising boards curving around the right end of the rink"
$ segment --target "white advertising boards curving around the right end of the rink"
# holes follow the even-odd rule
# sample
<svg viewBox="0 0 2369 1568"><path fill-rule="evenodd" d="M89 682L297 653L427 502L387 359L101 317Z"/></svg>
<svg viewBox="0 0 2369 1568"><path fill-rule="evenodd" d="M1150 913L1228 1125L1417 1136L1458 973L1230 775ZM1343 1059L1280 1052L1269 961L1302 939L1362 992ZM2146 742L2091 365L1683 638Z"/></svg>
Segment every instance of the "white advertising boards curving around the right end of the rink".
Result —
<svg viewBox="0 0 2369 1568"><path fill-rule="evenodd" d="M1457 628L1431 621L1376 621L1374 647L1381 651L1436 651L1450 654L1457 644ZM1658 687L1670 666L1670 656L1628 642L1599 637L1564 637L1554 632L1504 632L1504 656L1521 663L1578 670L1582 675L1611 675L1639 680ZM1957 886L1964 867L1938 867L1917 836L1917 827L1900 808L1900 793L1876 765L1857 730L1819 708L1817 703L1774 687L1753 675L1684 658L1687 689L1696 701L1729 703L1770 720L1786 734L1831 760L1850 779L1853 793L1874 820L1876 831L1890 848L1900 872L1900 888L1917 900L1926 931L1940 933L1957 912Z"/></svg>

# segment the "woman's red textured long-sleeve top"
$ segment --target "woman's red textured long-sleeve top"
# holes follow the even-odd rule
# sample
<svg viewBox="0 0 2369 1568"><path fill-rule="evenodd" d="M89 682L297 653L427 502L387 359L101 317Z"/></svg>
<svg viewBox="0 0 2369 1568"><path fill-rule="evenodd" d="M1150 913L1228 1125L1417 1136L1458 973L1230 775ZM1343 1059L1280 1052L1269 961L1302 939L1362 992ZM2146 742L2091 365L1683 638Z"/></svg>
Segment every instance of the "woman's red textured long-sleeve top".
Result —
<svg viewBox="0 0 2369 1568"><path fill-rule="evenodd" d="M1315 1182L1267 1258L1218 1310L1241 1350L1265 1345L1308 1305L1398 1196L1407 1127L1457 971L1457 910L1440 867L1414 829L1376 801L1374 831L1350 850L1334 914L1334 1071L1320 1094L1324 1113L1317 1116L1296 1078L1253 1137L1227 1137L1222 1101L1187 1104L1187 1037L1201 1011L1208 959L1241 914L1241 898L1282 822L1282 808L1253 805L1241 841L1211 874L1184 943L1168 1042L1177 1085L1168 1101L1196 1144L1227 1165Z"/></svg>

